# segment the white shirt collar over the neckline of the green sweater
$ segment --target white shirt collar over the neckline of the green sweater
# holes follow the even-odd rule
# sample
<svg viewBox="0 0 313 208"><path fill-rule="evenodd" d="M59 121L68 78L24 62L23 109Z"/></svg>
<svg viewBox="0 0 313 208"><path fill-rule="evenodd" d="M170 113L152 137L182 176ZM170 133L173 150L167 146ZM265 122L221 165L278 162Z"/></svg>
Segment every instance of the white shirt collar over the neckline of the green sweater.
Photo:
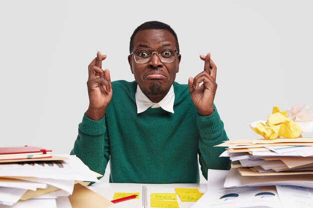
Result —
<svg viewBox="0 0 313 208"><path fill-rule="evenodd" d="M174 113L174 100L175 93L173 85L171 85L169 91L165 95L165 97L159 101L158 103L153 103L140 89L139 85L137 85L137 90L135 93L136 105L137 105L137 113L142 113L149 107L158 108L161 107L163 110L168 111L170 113Z"/></svg>

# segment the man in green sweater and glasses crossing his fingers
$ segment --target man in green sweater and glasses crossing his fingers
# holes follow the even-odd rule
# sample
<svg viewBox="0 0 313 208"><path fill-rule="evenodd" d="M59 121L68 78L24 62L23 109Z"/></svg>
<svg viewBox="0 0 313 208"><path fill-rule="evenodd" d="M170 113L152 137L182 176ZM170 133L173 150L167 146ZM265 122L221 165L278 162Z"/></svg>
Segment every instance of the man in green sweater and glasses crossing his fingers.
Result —
<svg viewBox="0 0 313 208"><path fill-rule="evenodd" d="M110 81L97 52L88 66L89 107L71 154L112 183L199 183L207 169L229 169L213 147L227 140L213 99L216 66L201 55L204 70L188 85L176 82L181 55L176 33L158 21L138 26L128 62L135 81ZM202 85L199 86L200 83Z"/></svg>

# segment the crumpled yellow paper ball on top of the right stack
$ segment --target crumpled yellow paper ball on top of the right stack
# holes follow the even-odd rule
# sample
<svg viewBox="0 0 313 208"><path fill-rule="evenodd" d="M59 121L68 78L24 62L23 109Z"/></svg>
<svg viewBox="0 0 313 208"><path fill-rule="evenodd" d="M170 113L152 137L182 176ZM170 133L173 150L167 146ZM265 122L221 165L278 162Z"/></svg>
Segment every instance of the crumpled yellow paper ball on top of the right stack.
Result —
<svg viewBox="0 0 313 208"><path fill-rule="evenodd" d="M256 123L252 130L267 140L277 137L297 138L302 133L299 124L287 117L287 112L280 111L279 107L273 107L272 114L268 116L265 124Z"/></svg>

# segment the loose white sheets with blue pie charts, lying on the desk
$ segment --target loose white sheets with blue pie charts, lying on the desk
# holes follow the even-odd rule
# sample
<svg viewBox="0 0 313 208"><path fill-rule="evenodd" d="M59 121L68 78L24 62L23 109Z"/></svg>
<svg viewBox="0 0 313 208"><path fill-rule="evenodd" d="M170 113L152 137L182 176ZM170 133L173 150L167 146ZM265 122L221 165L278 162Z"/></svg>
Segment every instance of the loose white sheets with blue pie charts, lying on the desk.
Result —
<svg viewBox="0 0 313 208"><path fill-rule="evenodd" d="M312 208L313 189L297 186L224 188L228 171L208 170L207 192L192 208Z"/></svg>

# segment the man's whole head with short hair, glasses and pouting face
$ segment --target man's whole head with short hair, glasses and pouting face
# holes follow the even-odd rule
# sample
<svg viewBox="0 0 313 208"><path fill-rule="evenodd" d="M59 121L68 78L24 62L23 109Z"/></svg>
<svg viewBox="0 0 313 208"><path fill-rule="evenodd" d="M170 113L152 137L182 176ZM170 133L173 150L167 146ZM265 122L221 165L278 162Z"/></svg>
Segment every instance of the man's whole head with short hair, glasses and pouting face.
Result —
<svg viewBox="0 0 313 208"><path fill-rule="evenodd" d="M169 91L179 70L181 56L177 36L167 24L161 22L145 22L141 25L131 36L128 62L143 93L151 101L159 102Z"/></svg>

